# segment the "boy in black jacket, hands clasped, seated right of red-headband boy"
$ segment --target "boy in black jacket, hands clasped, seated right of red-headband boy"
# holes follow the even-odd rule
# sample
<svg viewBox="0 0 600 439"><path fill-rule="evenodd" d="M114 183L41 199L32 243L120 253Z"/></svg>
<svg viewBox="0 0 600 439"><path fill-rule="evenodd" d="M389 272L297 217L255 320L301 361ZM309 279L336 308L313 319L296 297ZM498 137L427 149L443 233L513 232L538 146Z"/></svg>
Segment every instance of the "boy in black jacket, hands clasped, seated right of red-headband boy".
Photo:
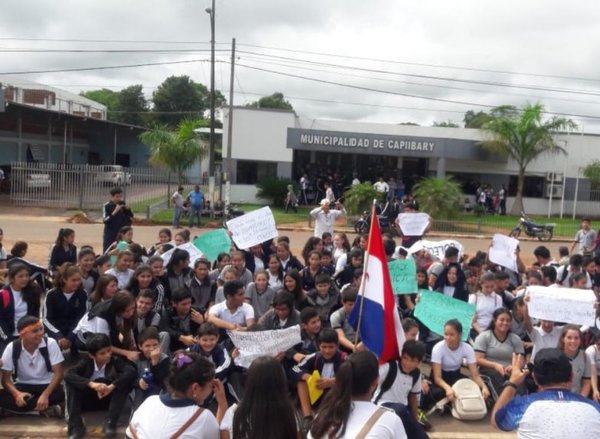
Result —
<svg viewBox="0 0 600 439"><path fill-rule="evenodd" d="M129 361L112 355L110 338L105 334L92 335L85 345L89 357L82 359L65 375L69 439L85 436L83 411L106 409L108 414L102 433L105 437L114 437L117 421L133 387L135 369Z"/></svg>

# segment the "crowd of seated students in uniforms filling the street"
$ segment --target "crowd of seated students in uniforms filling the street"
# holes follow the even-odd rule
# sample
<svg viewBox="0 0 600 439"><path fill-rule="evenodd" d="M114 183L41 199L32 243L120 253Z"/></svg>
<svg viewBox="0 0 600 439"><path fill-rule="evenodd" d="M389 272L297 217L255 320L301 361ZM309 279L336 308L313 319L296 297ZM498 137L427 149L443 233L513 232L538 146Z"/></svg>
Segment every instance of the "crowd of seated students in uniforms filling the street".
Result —
<svg viewBox="0 0 600 439"><path fill-rule="evenodd" d="M410 257L391 237L383 239L389 259ZM134 439L183 431L196 438L335 433L418 439L429 428L424 410L444 397L452 401L452 385L465 374L493 402L511 376L514 355L533 361L547 347L569 359L571 391L600 401L598 329L536 322L525 293L529 285L597 289L598 258L573 254L561 265L540 246L536 262L525 267L519 259L516 273L483 252L461 258L450 247L435 260L421 251L414 255L419 288L474 304L473 324L463 328L450 320L435 334L413 316L418 296L398 296L407 341L397 361L378 367L348 321L367 236L352 243L344 233L311 237L299 258L280 236L215 261L190 261L177 248L189 241L188 230L172 236L161 229L146 250L134 241L133 228L122 225L96 255L89 246L77 249L74 231L61 229L50 252L53 287L47 291L30 266L11 263L0 247L0 274L6 275L0 407L62 416L66 403L72 438L83 437L82 413L92 409L106 410L103 431L114 436L130 407L127 435ZM295 325L300 344L249 369L236 362L239 352L227 331ZM469 342L461 341L464 331ZM65 357L81 360L65 371ZM420 370L424 360L432 365L428 377ZM311 404L307 380L314 371L325 396ZM524 380L516 390L532 393L536 385Z"/></svg>

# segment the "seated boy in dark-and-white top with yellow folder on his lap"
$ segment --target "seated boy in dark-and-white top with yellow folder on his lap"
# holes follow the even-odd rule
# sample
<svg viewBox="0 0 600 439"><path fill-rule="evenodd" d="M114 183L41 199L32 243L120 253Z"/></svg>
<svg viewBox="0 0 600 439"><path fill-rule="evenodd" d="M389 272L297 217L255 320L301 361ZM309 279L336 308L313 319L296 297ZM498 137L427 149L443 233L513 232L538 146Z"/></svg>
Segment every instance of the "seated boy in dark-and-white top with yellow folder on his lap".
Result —
<svg viewBox="0 0 600 439"><path fill-rule="evenodd" d="M312 405L308 394L307 381L315 370L320 379L317 387L327 391L335 384L335 373L346 359L346 354L339 349L339 339L331 328L325 328L319 334L319 352L308 355L302 363L294 366L293 373L298 382L298 399L304 418L312 419Z"/></svg>

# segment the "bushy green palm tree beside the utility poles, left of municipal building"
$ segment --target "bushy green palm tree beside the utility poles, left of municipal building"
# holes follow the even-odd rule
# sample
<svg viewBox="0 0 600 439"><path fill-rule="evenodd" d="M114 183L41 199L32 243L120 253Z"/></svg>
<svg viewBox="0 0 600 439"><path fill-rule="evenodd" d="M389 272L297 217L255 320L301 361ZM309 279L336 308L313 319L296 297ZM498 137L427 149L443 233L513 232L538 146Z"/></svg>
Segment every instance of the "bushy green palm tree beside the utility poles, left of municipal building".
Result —
<svg viewBox="0 0 600 439"><path fill-rule="evenodd" d="M150 163L163 166L177 176L177 183L184 182L183 174L206 154L196 129L206 125L201 119L184 119L172 131L166 125L154 125L150 131L140 134L142 143L150 147Z"/></svg>

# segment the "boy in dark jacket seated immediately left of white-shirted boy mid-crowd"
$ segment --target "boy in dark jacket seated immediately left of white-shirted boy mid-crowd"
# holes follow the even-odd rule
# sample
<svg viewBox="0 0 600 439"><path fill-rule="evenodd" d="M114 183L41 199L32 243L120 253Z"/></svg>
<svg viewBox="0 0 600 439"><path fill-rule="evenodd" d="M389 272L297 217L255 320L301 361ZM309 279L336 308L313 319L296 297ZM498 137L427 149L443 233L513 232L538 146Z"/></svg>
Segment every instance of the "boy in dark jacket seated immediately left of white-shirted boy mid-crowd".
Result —
<svg viewBox="0 0 600 439"><path fill-rule="evenodd" d="M192 306L192 294L187 288L173 291L171 305L171 308L165 308L160 318L160 331L168 334L169 349L175 352L194 344L194 334L204 323L204 317Z"/></svg>

